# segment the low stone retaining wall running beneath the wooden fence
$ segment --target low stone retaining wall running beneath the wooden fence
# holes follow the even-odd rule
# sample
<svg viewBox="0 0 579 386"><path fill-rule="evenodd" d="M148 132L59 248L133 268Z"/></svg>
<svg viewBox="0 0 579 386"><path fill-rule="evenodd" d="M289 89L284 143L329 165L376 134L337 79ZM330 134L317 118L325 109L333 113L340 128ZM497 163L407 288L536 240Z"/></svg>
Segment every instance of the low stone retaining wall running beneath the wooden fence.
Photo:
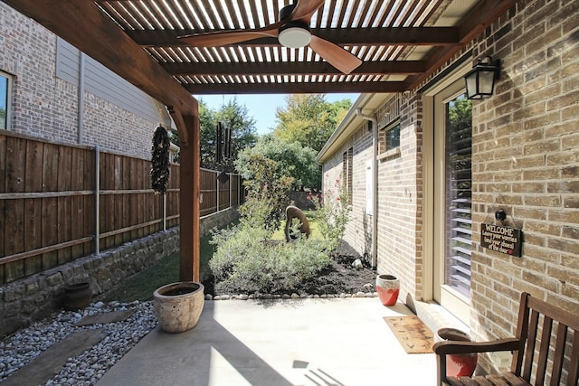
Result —
<svg viewBox="0 0 579 386"><path fill-rule="evenodd" d="M235 208L201 219L202 236L237 217ZM129 241L0 287L0 336L62 309L64 287L90 281L93 297L179 250L179 228Z"/></svg>

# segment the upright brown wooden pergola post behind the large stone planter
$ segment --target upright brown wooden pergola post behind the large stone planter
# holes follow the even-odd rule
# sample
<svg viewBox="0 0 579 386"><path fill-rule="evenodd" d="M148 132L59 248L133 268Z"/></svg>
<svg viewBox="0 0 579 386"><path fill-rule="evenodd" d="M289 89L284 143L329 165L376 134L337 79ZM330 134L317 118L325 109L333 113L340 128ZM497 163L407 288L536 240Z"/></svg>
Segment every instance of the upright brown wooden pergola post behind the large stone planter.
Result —
<svg viewBox="0 0 579 386"><path fill-rule="evenodd" d="M179 279L181 281L200 280L200 130L197 104L193 116L183 116L188 136L186 146L181 146L181 192L179 205L181 212Z"/></svg>

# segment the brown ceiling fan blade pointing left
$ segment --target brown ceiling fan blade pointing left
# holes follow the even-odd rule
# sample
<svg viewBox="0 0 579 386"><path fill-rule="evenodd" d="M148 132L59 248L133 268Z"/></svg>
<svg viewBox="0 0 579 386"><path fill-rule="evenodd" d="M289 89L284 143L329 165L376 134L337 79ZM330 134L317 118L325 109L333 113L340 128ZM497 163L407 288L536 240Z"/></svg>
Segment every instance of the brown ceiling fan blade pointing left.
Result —
<svg viewBox="0 0 579 386"><path fill-rule="evenodd" d="M255 30L234 30L234 31L217 31L214 33L197 33L193 35L179 36L179 40L195 47L219 47L236 42L247 42L262 37L277 38L279 28L282 23L268 25L267 27Z"/></svg>

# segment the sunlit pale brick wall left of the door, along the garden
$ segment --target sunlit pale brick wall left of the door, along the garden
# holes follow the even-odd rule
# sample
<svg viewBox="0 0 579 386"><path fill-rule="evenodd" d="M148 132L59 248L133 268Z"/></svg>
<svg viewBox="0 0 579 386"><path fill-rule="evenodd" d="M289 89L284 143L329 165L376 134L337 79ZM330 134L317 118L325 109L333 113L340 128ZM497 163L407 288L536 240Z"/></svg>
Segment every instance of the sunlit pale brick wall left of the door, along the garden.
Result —
<svg viewBox="0 0 579 386"><path fill-rule="evenodd" d="M408 295L422 297L422 161L417 143L422 141L420 126L416 124L419 103L404 100L401 152L381 157L378 167L378 227L377 270L392 274L401 281L401 299ZM379 117L380 118L380 117ZM388 122L379 122L383 128ZM342 155L348 148L354 150L354 178L352 212L346 225L344 240L360 254L372 253L372 216L366 208L366 162L372 159L372 131L367 124L356 129L346 145L324 163L324 192L333 183L342 181Z"/></svg>

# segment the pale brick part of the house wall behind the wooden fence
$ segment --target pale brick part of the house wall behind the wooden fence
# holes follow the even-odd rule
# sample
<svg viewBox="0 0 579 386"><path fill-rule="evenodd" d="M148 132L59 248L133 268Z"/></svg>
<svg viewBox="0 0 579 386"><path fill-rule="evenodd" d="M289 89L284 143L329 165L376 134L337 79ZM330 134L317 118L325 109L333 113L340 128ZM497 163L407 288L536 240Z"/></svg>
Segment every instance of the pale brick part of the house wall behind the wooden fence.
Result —
<svg viewBox="0 0 579 386"><path fill-rule="evenodd" d="M0 3L0 71L14 77L10 130L65 144L78 141L78 88L56 78L56 36ZM85 93L81 145L150 158L158 122Z"/></svg>

